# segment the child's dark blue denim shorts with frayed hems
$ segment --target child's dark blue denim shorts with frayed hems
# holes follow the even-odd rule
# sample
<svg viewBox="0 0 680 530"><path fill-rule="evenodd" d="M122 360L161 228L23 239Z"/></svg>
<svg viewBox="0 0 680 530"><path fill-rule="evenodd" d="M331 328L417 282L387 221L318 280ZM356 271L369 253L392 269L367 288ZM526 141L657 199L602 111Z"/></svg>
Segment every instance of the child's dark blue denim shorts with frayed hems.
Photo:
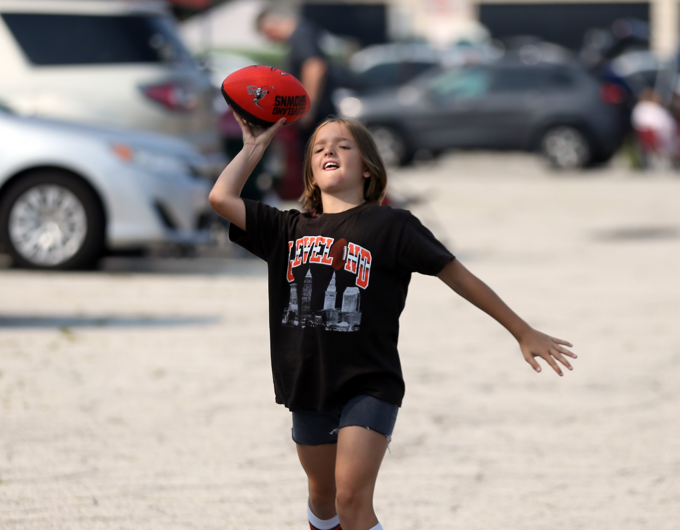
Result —
<svg viewBox="0 0 680 530"><path fill-rule="evenodd" d="M398 410L392 403L367 395L354 397L328 412L296 410L292 413L293 442L303 446L337 444L339 429L352 425L366 427L392 440Z"/></svg>

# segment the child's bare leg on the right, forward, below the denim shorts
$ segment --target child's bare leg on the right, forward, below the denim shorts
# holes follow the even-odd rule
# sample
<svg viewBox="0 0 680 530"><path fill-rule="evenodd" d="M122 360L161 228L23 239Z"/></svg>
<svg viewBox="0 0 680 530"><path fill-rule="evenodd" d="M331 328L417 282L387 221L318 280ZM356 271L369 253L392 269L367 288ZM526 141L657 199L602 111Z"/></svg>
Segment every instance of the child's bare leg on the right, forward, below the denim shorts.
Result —
<svg viewBox="0 0 680 530"><path fill-rule="evenodd" d="M335 457L335 506L343 530L370 530L378 524L373 489L388 438L365 427L342 427Z"/></svg>

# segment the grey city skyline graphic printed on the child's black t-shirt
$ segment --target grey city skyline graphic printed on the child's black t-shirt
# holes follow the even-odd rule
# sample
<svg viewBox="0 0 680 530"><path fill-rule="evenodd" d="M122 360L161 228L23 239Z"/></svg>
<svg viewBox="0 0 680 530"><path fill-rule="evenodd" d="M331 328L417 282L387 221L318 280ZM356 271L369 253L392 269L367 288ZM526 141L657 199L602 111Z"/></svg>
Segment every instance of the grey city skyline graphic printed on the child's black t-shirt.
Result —
<svg viewBox="0 0 680 530"><path fill-rule="evenodd" d="M311 267L302 282L302 289L296 282L290 283L288 308L284 310L282 324L286 326L322 327L327 331L358 331L361 323L360 293L355 286L345 287L341 295L333 276L324 292L323 307L313 308L314 288ZM338 307L339 305L339 307Z"/></svg>

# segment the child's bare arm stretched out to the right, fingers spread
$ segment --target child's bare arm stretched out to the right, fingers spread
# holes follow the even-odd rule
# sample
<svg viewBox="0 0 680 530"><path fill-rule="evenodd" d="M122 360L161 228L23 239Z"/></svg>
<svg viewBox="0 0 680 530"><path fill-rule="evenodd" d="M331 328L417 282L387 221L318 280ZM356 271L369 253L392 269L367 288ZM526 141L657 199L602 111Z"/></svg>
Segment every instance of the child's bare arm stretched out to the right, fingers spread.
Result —
<svg viewBox="0 0 680 530"><path fill-rule="evenodd" d="M477 305L479 309L498 320L505 329L512 333L513 337L520 343L524 359L532 365L534 370L541 371L541 367L534 357L543 357L560 376L562 370L555 359L568 369L572 369L564 356L576 359L576 355L560 346L560 344L573 346L571 343L556 339L530 327L487 284L463 267L460 261L457 259L449 261L437 276L456 293Z"/></svg>

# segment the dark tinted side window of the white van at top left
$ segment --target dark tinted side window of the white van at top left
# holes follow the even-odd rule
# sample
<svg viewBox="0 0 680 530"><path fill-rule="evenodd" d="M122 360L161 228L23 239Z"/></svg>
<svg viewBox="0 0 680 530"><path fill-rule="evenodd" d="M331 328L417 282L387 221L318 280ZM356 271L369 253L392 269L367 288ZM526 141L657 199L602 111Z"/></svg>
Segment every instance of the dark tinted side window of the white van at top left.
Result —
<svg viewBox="0 0 680 530"><path fill-rule="evenodd" d="M160 16L4 13L3 20L35 65L160 63L188 58Z"/></svg>

